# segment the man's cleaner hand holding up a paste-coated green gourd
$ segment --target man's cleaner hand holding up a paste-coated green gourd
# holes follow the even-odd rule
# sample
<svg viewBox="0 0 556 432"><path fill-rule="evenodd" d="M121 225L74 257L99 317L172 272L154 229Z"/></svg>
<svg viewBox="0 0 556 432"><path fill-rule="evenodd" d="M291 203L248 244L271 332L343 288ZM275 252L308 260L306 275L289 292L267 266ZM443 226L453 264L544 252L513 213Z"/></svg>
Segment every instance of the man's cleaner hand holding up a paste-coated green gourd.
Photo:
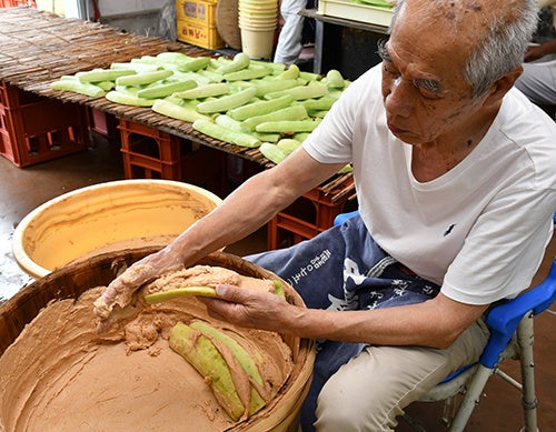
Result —
<svg viewBox="0 0 556 432"><path fill-rule="evenodd" d="M239 326L289 333L287 323L298 310L278 295L228 284L216 287L218 298L199 298L210 317Z"/></svg>

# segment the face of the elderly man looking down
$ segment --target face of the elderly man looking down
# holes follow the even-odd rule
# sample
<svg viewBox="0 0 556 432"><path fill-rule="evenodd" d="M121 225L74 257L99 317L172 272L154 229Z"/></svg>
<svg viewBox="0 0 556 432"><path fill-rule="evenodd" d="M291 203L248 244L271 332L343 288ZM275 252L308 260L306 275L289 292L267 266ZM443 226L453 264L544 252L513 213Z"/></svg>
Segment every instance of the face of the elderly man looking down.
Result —
<svg viewBox="0 0 556 432"><path fill-rule="evenodd" d="M410 144L465 130L484 102L461 74L473 32L450 34L441 20L419 19L406 8L381 50L387 123Z"/></svg>

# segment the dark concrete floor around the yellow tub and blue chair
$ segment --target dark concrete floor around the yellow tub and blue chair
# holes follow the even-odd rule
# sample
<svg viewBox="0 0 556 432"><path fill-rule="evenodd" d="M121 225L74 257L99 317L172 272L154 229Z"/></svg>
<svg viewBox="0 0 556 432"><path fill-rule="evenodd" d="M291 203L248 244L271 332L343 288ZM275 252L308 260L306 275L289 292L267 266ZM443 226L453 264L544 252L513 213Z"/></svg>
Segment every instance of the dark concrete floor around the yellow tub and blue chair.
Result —
<svg viewBox="0 0 556 432"><path fill-rule="evenodd" d="M71 190L99 182L123 179L118 143L97 140L96 148L77 154L17 168L0 158L0 301L10 298L32 280L19 270L11 257L11 235L21 219L39 204ZM238 255L266 248L264 230L234 244L229 251ZM556 313L548 311L536 319L535 354L538 421L543 432L556 432ZM516 362L508 362L512 374L518 376ZM443 431L439 424L441 404L415 403L407 410L428 431ZM498 376L490 379L480 404L466 431L507 432L523 425L519 393ZM400 420L397 431L414 430Z"/></svg>

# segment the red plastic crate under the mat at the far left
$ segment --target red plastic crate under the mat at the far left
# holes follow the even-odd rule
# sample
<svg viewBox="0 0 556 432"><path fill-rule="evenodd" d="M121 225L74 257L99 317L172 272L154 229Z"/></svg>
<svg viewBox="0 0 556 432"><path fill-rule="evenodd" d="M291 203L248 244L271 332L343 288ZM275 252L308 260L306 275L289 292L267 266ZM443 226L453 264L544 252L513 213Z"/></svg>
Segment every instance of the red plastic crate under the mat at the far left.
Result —
<svg viewBox="0 0 556 432"><path fill-rule="evenodd" d="M86 107L62 103L0 81L0 154L18 167L90 147Z"/></svg>

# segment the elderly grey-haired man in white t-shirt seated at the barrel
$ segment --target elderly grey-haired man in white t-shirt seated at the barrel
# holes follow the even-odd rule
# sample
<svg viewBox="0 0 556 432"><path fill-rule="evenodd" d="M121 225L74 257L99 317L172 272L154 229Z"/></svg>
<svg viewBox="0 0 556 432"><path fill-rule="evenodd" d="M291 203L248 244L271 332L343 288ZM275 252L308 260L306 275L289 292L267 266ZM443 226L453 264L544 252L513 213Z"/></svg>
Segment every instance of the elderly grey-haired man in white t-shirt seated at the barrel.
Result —
<svg viewBox="0 0 556 432"><path fill-rule="evenodd" d="M231 285L205 302L319 341L304 430L395 428L478 358L481 315L529 284L552 235L556 125L513 89L536 17L534 0L398 1L383 63L301 149L116 279L96 302L103 325L146 280L249 234L351 162L360 217L250 258L308 309Z"/></svg>

